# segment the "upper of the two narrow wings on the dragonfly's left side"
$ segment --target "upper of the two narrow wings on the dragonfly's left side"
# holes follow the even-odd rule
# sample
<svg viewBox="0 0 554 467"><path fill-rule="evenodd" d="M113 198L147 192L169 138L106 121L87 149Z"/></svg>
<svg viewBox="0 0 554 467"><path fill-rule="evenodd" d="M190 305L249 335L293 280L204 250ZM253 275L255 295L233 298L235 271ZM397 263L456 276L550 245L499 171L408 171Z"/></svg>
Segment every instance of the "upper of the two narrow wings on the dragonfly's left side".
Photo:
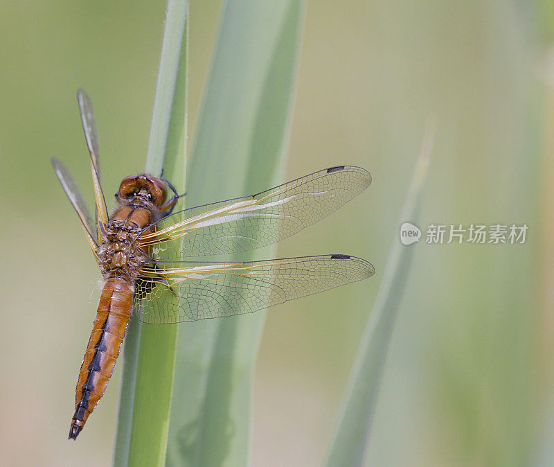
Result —
<svg viewBox="0 0 554 467"><path fill-rule="evenodd" d="M98 129L96 127L96 118L92 102L87 93L82 89L77 91L77 102L81 115L82 129L84 130L84 139L87 140L87 147L91 155L91 173L94 187L94 202L96 204L96 229L97 238L102 239L102 224L107 224L108 213L106 200L100 186L100 144L98 143Z"/></svg>

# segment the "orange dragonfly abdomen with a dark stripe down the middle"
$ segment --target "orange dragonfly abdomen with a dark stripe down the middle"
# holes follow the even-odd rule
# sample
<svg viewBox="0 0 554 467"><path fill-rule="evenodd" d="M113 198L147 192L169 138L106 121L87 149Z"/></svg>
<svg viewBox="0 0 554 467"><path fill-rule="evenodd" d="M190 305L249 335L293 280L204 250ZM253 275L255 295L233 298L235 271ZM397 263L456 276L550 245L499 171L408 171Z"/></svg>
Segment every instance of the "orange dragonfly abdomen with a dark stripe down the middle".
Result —
<svg viewBox="0 0 554 467"><path fill-rule="evenodd" d="M77 438L114 371L131 315L133 293L134 285L125 277L110 277L104 285L75 389L70 439Z"/></svg>

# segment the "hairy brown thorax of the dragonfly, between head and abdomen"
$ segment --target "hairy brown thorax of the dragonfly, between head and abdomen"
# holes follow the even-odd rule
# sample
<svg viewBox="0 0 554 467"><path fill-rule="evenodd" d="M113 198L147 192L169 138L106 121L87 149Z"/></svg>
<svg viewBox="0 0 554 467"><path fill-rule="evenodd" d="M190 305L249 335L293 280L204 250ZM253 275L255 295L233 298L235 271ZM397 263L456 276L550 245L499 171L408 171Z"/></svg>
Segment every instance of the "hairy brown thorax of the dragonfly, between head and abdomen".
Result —
<svg viewBox="0 0 554 467"><path fill-rule="evenodd" d="M148 249L141 247L139 236L155 229L152 225L144 230L154 218L157 218L157 209L148 203L120 206L111 216L104 242L98 249L100 268L106 279L114 275L129 281L136 279L141 265L150 260Z"/></svg>

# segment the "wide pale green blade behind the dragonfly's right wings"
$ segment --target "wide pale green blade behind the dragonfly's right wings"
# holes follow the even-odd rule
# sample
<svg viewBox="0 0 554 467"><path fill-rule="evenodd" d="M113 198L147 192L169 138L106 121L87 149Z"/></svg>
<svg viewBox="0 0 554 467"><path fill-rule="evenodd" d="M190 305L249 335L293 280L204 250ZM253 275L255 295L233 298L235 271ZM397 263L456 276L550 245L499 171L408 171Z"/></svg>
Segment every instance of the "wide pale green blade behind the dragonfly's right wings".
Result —
<svg viewBox="0 0 554 467"><path fill-rule="evenodd" d="M301 0L224 3L191 150L189 206L282 181L303 12ZM248 464L264 319L258 312L179 326L168 465Z"/></svg>

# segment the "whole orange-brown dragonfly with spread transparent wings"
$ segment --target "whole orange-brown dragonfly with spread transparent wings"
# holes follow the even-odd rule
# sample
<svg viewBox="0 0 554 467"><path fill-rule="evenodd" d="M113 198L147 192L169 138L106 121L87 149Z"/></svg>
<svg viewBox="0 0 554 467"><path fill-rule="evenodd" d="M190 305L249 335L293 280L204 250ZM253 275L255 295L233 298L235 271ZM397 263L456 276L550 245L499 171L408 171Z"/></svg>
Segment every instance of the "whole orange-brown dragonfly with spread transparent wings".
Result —
<svg viewBox="0 0 554 467"><path fill-rule="evenodd" d="M346 254L269 261L206 262L276 243L314 224L371 183L367 170L334 166L255 195L173 212L180 195L163 174L125 177L108 211L100 185L91 100L77 94L91 161L93 218L69 170L51 159L104 279L75 388L69 439L76 439L114 371L131 314L168 324L254 312L373 276L368 261Z"/></svg>

